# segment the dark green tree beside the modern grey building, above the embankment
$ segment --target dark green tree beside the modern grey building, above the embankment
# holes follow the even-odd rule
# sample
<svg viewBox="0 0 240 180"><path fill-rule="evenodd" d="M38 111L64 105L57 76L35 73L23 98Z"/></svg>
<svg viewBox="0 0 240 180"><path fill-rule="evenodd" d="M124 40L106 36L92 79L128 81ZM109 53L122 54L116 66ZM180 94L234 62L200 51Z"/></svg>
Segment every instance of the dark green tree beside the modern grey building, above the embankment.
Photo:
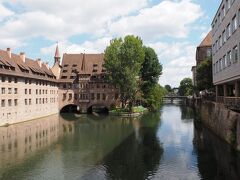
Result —
<svg viewBox="0 0 240 180"><path fill-rule="evenodd" d="M213 77L212 77L212 59L206 59L199 66L197 66L197 89L199 91L205 89L213 89Z"/></svg>

